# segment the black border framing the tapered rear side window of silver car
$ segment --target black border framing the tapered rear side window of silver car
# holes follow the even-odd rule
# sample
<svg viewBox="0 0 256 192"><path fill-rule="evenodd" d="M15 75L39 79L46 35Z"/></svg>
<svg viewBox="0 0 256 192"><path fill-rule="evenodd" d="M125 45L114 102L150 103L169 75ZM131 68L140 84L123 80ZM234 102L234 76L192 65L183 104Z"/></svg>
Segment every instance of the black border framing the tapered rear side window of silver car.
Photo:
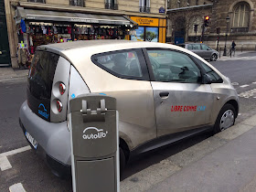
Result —
<svg viewBox="0 0 256 192"><path fill-rule="evenodd" d="M113 70L104 67L101 63L99 63L96 60L97 57L111 55L111 54L117 54L117 53L123 53L123 52L129 52L129 51L136 52L136 54L138 56L138 59L139 59L139 62L141 64L143 77L128 76L128 75L122 75L122 74L116 73ZM142 56L142 57L140 57L140 56ZM108 52L101 52L101 53L93 54L91 56L91 62L94 63L99 68L107 71L108 73L112 74L113 76L115 76L117 78L121 78L121 79L124 79L124 80L147 80L147 81L150 80L149 71L148 71L148 68L147 68L147 65L146 65L146 61L144 59L144 52L143 52L142 48L118 49L118 50L112 50L112 51L108 51Z"/></svg>

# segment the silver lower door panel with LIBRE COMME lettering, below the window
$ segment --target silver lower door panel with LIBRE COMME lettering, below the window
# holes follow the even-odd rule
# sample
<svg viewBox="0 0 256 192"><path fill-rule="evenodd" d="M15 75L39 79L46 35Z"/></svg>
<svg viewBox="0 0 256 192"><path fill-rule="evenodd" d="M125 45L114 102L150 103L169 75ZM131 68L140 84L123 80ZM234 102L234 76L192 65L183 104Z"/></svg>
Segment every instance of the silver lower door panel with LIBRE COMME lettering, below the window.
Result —
<svg viewBox="0 0 256 192"><path fill-rule="evenodd" d="M210 85L152 82L157 136L201 127L210 122L213 94ZM160 92L168 92L161 98ZM176 109L179 110L176 110Z"/></svg>

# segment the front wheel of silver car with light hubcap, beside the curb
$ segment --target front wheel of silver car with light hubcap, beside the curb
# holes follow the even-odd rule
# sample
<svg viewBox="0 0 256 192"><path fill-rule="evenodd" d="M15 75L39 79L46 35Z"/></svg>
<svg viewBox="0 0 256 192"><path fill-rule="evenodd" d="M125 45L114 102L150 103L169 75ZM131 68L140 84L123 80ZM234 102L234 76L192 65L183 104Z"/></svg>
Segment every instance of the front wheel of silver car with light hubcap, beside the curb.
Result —
<svg viewBox="0 0 256 192"><path fill-rule="evenodd" d="M235 123L236 110L233 105L227 103L225 104L217 117L217 120L214 124L213 133L219 133Z"/></svg>

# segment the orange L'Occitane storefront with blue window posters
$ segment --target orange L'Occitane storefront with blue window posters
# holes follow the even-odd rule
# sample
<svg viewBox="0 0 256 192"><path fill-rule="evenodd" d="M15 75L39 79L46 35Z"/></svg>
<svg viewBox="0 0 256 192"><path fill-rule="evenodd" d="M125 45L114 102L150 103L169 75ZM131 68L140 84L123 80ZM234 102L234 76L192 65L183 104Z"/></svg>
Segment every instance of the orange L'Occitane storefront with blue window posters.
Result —
<svg viewBox="0 0 256 192"><path fill-rule="evenodd" d="M165 43L166 19L131 16L138 28L130 31L130 39Z"/></svg>

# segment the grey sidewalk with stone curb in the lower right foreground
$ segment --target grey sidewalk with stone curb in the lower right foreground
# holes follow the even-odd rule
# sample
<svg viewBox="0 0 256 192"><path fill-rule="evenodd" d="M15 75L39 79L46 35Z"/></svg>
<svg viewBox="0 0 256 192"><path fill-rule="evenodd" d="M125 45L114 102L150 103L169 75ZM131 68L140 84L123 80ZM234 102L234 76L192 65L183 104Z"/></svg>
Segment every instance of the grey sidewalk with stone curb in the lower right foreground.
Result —
<svg viewBox="0 0 256 192"><path fill-rule="evenodd" d="M121 191L256 191L256 115L121 182Z"/></svg>

